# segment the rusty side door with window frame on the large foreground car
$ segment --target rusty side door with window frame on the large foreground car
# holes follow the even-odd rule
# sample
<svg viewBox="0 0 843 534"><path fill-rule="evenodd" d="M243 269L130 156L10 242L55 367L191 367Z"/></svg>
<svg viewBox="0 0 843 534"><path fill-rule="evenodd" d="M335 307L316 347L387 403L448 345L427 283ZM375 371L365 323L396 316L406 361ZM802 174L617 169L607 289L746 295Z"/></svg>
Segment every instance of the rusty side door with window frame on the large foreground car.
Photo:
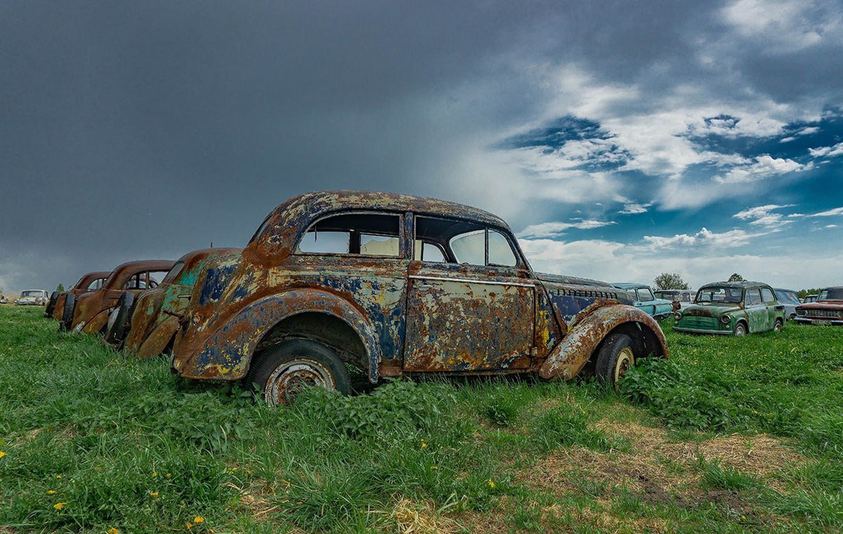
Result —
<svg viewBox="0 0 843 534"><path fill-rule="evenodd" d="M536 287L512 235L443 218L416 217L415 223L405 371L528 367ZM433 248L434 258L418 251L427 255Z"/></svg>

